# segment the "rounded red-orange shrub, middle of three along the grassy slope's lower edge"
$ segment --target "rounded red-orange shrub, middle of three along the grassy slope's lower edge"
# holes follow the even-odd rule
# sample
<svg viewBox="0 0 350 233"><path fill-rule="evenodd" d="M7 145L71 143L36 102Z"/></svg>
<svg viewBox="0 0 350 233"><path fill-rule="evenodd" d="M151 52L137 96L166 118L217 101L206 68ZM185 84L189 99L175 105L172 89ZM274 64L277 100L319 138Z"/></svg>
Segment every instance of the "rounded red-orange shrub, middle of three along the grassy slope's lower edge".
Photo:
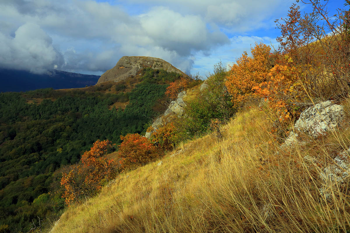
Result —
<svg viewBox="0 0 350 233"><path fill-rule="evenodd" d="M119 156L122 169L132 168L136 165L145 165L158 158L160 151L146 137L138 133L128 133L120 136L123 142L119 145Z"/></svg>

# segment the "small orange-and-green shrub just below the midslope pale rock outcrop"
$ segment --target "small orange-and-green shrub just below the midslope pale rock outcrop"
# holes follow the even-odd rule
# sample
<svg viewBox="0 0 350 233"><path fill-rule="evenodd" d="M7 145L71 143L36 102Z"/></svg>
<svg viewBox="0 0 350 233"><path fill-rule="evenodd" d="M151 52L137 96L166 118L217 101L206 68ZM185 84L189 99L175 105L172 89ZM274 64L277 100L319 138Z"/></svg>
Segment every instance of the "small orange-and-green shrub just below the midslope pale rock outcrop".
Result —
<svg viewBox="0 0 350 233"><path fill-rule="evenodd" d="M176 136L176 128L172 122L153 132L150 139L154 145L163 151L173 150L176 141L179 140Z"/></svg>

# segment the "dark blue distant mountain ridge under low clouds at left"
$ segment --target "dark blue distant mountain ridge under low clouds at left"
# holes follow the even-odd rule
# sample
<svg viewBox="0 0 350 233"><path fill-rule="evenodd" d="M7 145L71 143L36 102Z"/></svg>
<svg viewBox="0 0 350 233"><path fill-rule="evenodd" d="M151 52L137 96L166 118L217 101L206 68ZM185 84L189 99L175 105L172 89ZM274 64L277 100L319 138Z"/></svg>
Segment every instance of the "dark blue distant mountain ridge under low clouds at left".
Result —
<svg viewBox="0 0 350 233"><path fill-rule="evenodd" d="M0 92L25 92L41 88L68 89L95 85L100 76L49 70L44 74L0 68Z"/></svg>

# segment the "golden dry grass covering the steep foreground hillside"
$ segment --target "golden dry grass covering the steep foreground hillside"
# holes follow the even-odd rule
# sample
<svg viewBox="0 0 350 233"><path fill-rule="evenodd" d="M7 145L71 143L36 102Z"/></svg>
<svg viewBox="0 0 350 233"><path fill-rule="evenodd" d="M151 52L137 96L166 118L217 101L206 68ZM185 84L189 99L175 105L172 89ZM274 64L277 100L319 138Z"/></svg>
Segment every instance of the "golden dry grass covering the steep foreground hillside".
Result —
<svg viewBox="0 0 350 233"><path fill-rule="evenodd" d="M183 151L121 174L84 204L69 207L52 233L63 232L347 232L347 185L320 194L321 168L349 148L350 130L303 147L280 149L257 108L238 114ZM278 152L278 153L276 153Z"/></svg>

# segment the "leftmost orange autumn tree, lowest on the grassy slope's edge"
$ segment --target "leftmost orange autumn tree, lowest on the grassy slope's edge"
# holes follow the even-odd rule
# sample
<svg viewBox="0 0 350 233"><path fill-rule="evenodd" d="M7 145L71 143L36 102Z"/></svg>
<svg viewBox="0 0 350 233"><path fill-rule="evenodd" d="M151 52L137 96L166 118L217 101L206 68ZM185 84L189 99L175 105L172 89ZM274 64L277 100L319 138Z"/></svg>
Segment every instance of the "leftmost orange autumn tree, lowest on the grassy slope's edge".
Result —
<svg viewBox="0 0 350 233"><path fill-rule="evenodd" d="M117 175L117 164L106 158L115 144L109 140L97 140L90 151L85 151L80 159L81 164L71 167L69 172L62 173L61 186L64 188L66 204L91 197L102 188L102 185Z"/></svg>

